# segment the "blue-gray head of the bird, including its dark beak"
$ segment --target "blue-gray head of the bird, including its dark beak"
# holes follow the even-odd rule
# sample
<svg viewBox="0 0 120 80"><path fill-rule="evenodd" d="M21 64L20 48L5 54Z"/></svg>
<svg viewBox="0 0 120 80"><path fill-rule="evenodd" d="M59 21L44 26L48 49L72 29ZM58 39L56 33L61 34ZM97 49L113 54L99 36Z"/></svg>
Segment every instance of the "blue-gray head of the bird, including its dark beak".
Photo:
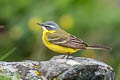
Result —
<svg viewBox="0 0 120 80"><path fill-rule="evenodd" d="M45 28L47 30L57 30L57 29L59 29L59 26L53 21L47 21L45 23L37 23L37 24L42 26L42 28Z"/></svg>

